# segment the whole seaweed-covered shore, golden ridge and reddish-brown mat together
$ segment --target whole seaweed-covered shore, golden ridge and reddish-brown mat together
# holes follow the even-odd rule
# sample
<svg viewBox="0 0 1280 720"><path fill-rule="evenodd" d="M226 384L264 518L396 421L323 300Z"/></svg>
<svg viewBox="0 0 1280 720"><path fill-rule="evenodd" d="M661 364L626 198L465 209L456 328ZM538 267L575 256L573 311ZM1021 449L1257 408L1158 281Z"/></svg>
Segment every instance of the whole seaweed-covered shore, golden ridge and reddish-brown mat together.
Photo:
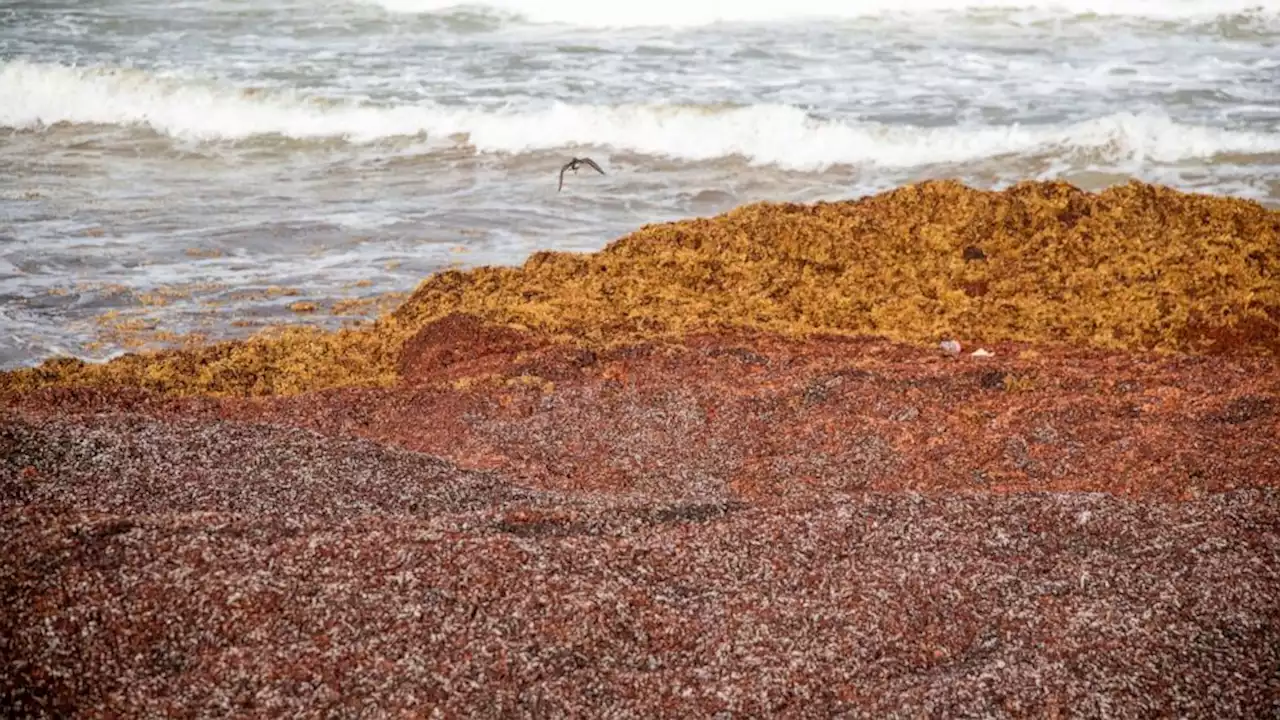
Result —
<svg viewBox="0 0 1280 720"><path fill-rule="evenodd" d="M1280 715L1277 268L1252 202L924 183L0 375L0 700Z"/></svg>

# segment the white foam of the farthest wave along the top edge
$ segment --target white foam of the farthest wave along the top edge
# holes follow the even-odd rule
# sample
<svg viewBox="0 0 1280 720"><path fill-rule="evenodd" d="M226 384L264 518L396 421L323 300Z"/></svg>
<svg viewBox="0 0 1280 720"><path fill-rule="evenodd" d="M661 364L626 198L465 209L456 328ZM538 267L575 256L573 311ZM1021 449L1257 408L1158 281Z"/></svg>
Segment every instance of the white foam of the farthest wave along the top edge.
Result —
<svg viewBox="0 0 1280 720"><path fill-rule="evenodd" d="M699 26L714 22L781 22L1012 10L1036 15L1204 19L1245 13L1280 14L1277 0L356 0L393 13L474 9L532 22L581 26Z"/></svg>

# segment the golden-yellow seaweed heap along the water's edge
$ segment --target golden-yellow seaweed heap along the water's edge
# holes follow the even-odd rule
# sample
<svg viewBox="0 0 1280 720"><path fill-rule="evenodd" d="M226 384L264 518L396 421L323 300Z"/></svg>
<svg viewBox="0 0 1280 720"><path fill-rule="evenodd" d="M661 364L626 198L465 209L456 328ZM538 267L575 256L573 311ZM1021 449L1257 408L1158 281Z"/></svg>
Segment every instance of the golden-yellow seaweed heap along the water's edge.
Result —
<svg viewBox="0 0 1280 720"><path fill-rule="evenodd" d="M581 345L754 329L1275 355L1277 268L1280 213L1252 201L1140 182L1089 193L1061 182L997 192L931 181L646 225L594 254L444 272L365 327L288 328L106 364L56 359L0 375L0 389L388 386L406 340L451 314Z"/></svg>

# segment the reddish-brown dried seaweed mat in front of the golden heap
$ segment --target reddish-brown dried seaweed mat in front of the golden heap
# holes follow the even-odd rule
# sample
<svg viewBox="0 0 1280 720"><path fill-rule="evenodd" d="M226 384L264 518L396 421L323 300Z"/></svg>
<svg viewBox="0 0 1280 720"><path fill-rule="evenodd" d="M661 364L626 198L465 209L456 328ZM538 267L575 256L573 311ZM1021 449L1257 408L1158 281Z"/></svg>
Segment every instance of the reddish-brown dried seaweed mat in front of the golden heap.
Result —
<svg viewBox="0 0 1280 720"><path fill-rule="evenodd" d="M1274 360L486 332L4 398L9 714L1280 712Z"/></svg>

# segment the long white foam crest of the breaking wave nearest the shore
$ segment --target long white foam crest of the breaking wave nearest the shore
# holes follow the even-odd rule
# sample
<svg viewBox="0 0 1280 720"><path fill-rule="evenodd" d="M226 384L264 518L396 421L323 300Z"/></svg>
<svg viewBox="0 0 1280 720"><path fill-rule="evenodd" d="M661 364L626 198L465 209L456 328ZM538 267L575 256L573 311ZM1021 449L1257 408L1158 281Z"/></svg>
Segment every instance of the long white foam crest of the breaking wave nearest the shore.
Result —
<svg viewBox="0 0 1280 720"><path fill-rule="evenodd" d="M1187 126L1161 114L1117 113L1056 126L919 128L818 119L787 105L378 108L246 95L138 70L24 61L0 68L0 126L59 122L140 124L179 138L229 141L279 135L367 142L425 135L436 142L465 136L480 152L603 146L690 161L741 156L796 170L841 164L906 168L1024 154L1176 163L1219 154L1280 152L1280 135Z"/></svg>

